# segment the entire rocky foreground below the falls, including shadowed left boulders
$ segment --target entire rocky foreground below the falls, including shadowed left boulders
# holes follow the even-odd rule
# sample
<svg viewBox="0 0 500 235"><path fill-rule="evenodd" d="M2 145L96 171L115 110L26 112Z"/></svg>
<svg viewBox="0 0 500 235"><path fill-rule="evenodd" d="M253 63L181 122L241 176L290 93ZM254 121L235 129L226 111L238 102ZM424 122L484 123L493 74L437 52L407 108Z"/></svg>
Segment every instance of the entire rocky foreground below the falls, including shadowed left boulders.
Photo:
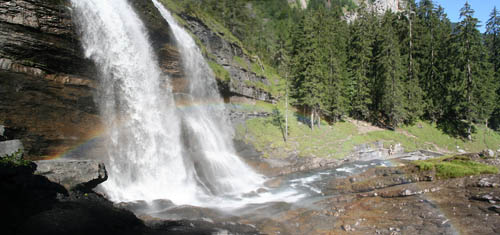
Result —
<svg viewBox="0 0 500 235"><path fill-rule="evenodd" d="M240 146L241 147L241 146ZM243 195L289 198L224 209L153 202L113 204L92 188L107 178L102 163L51 160L0 169L7 234L498 234L500 175L443 178L408 156L323 164L318 159L261 159L265 186ZM422 154L422 153L421 153ZM407 154L408 155L408 154ZM415 154L409 154L415 156ZM412 159L412 158L410 158ZM500 159L456 159L496 167ZM259 164L257 164L260 162ZM300 163L299 163L300 162ZM304 167L296 166L303 164ZM38 166L37 166L38 165ZM266 166L267 165L267 166ZM267 170L265 170L267 169ZM272 169L272 170L269 170ZM294 200L290 200L291 198Z"/></svg>

